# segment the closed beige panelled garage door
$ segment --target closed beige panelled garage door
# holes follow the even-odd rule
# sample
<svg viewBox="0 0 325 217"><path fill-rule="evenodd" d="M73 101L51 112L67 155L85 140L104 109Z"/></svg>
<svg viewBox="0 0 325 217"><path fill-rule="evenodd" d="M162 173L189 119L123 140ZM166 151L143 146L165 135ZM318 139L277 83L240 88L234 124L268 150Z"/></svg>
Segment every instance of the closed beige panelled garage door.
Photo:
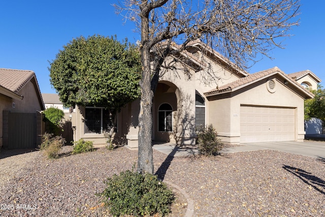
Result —
<svg viewBox="0 0 325 217"><path fill-rule="evenodd" d="M241 106L240 143L295 141L295 109Z"/></svg>

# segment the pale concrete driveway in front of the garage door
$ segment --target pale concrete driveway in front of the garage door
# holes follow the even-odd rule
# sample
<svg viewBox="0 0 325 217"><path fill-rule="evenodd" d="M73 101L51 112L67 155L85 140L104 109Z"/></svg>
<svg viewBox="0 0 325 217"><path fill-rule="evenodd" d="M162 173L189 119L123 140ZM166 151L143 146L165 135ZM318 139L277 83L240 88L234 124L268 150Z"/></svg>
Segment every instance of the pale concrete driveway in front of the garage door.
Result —
<svg viewBox="0 0 325 217"><path fill-rule="evenodd" d="M325 142L261 142L261 143L246 143L237 147L223 148L222 152L233 153L240 151L253 150L278 150L288 153L301 154L313 158L325 159Z"/></svg>

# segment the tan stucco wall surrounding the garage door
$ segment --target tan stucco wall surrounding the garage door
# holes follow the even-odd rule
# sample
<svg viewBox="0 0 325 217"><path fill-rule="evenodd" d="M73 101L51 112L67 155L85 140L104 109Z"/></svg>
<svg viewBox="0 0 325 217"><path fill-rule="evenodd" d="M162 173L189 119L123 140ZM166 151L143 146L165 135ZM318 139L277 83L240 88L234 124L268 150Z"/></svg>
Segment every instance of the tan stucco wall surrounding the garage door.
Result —
<svg viewBox="0 0 325 217"><path fill-rule="evenodd" d="M279 78L280 79L280 78ZM275 79L276 91L267 89L267 79L256 82L254 86L233 92L232 98L227 96L210 97L211 122L218 136L225 142L240 141L240 106L258 105L274 107L290 107L296 109L296 141L304 139L304 99L287 88L283 81ZM228 95L229 97L230 95ZM219 100L217 100L219 99ZM212 115L215 113L215 115Z"/></svg>

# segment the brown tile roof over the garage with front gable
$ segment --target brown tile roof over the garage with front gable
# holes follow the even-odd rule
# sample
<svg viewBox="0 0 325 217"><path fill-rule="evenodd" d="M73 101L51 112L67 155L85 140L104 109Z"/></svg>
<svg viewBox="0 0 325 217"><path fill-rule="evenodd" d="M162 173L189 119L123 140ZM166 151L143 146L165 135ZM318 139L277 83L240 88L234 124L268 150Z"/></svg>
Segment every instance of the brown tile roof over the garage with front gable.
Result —
<svg viewBox="0 0 325 217"><path fill-rule="evenodd" d="M271 74L276 74L276 73L282 74L288 80L295 83L296 85L301 87L303 90L307 91L309 95L313 96L313 94L308 89L305 89L303 86L301 86L293 78L291 78L290 76L288 76L284 72L282 72L278 67L274 67L272 69L268 69L268 70L265 70L265 71L250 74L247 77L240 78L240 79L238 79L236 81L233 81L231 83L228 83L228 84L222 85L220 87L217 87L215 89L209 90L209 91L205 92L204 94L205 95L211 95L211 94L220 94L221 92L225 92L225 91L234 91L236 89L239 89L241 87L244 87L246 85L254 83L257 80L263 79L264 77L267 77L267 76L269 76Z"/></svg>

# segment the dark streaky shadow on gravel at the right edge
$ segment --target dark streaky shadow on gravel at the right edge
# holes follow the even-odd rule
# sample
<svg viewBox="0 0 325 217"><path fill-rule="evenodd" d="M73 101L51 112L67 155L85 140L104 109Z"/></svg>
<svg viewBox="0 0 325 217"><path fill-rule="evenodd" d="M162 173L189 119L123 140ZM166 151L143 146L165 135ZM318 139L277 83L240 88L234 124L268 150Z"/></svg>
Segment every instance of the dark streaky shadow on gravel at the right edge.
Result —
<svg viewBox="0 0 325 217"><path fill-rule="evenodd" d="M314 176L305 170L298 169L295 167L283 165L282 168L294 174L295 176L300 178L303 182L309 184L312 188L325 195L325 181L322 180L321 178L318 178L317 176Z"/></svg>

